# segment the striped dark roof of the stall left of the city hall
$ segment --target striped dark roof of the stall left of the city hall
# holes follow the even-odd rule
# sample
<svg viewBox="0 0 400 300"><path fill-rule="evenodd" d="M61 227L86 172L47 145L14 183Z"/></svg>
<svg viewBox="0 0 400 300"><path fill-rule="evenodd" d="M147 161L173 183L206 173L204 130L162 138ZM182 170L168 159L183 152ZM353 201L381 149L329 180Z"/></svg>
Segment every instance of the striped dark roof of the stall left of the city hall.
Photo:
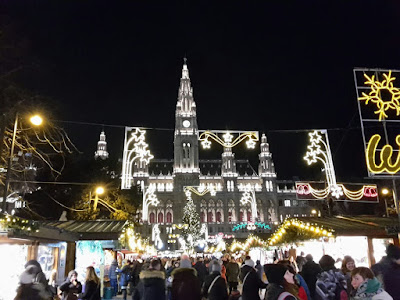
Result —
<svg viewBox="0 0 400 300"><path fill-rule="evenodd" d="M80 240L116 240L127 221L95 220L95 221L50 221L43 225L59 230L76 233Z"/></svg>

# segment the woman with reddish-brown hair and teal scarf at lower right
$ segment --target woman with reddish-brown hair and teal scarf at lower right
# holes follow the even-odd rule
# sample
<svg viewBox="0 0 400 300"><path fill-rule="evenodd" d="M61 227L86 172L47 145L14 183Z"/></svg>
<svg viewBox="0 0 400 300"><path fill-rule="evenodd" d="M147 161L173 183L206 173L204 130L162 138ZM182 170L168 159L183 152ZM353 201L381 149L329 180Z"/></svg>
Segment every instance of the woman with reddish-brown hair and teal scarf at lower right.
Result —
<svg viewBox="0 0 400 300"><path fill-rule="evenodd" d="M351 272L351 285L354 290L351 299L368 299L368 300L392 300L386 291L381 287L374 273L368 268L355 268Z"/></svg>

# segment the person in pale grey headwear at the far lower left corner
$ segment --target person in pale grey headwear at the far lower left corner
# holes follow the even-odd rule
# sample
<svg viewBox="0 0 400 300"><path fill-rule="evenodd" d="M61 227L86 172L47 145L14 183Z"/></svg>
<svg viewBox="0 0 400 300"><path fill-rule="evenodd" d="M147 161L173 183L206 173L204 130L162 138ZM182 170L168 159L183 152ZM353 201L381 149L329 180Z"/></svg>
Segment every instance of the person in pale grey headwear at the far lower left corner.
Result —
<svg viewBox="0 0 400 300"><path fill-rule="evenodd" d="M41 268L40 268L41 270ZM37 282L37 274L40 270L35 265L28 265L19 277L19 286L14 300L48 300L51 294L46 286Z"/></svg>

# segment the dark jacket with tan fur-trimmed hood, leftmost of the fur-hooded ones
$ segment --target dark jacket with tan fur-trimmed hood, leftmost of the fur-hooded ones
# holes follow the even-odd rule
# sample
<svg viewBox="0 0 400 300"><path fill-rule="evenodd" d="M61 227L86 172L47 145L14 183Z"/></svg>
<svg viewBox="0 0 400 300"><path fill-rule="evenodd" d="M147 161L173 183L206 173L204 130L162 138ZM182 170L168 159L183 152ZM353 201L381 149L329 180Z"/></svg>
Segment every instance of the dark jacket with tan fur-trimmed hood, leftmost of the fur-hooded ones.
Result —
<svg viewBox="0 0 400 300"><path fill-rule="evenodd" d="M132 300L165 300L165 273L157 270L142 271Z"/></svg>

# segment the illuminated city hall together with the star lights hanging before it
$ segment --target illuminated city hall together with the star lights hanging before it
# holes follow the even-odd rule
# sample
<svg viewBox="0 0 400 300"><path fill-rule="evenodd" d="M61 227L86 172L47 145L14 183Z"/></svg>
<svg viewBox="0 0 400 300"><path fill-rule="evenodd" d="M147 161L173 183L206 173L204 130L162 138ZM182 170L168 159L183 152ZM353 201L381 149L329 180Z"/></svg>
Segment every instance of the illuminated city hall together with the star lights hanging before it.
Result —
<svg viewBox="0 0 400 300"><path fill-rule="evenodd" d="M199 149L211 143L220 147L221 157L201 159ZM256 171L248 160L235 159L234 146L255 148L257 143ZM144 130L126 128L121 187L137 185L143 191L142 233L151 234L159 224L163 240L171 237L171 226L183 225L188 192L209 236L246 237L250 230L270 232L286 217L310 215L307 201L296 200L294 182L277 180L265 134L199 130L186 61L176 103L174 157L153 158L147 148Z"/></svg>

